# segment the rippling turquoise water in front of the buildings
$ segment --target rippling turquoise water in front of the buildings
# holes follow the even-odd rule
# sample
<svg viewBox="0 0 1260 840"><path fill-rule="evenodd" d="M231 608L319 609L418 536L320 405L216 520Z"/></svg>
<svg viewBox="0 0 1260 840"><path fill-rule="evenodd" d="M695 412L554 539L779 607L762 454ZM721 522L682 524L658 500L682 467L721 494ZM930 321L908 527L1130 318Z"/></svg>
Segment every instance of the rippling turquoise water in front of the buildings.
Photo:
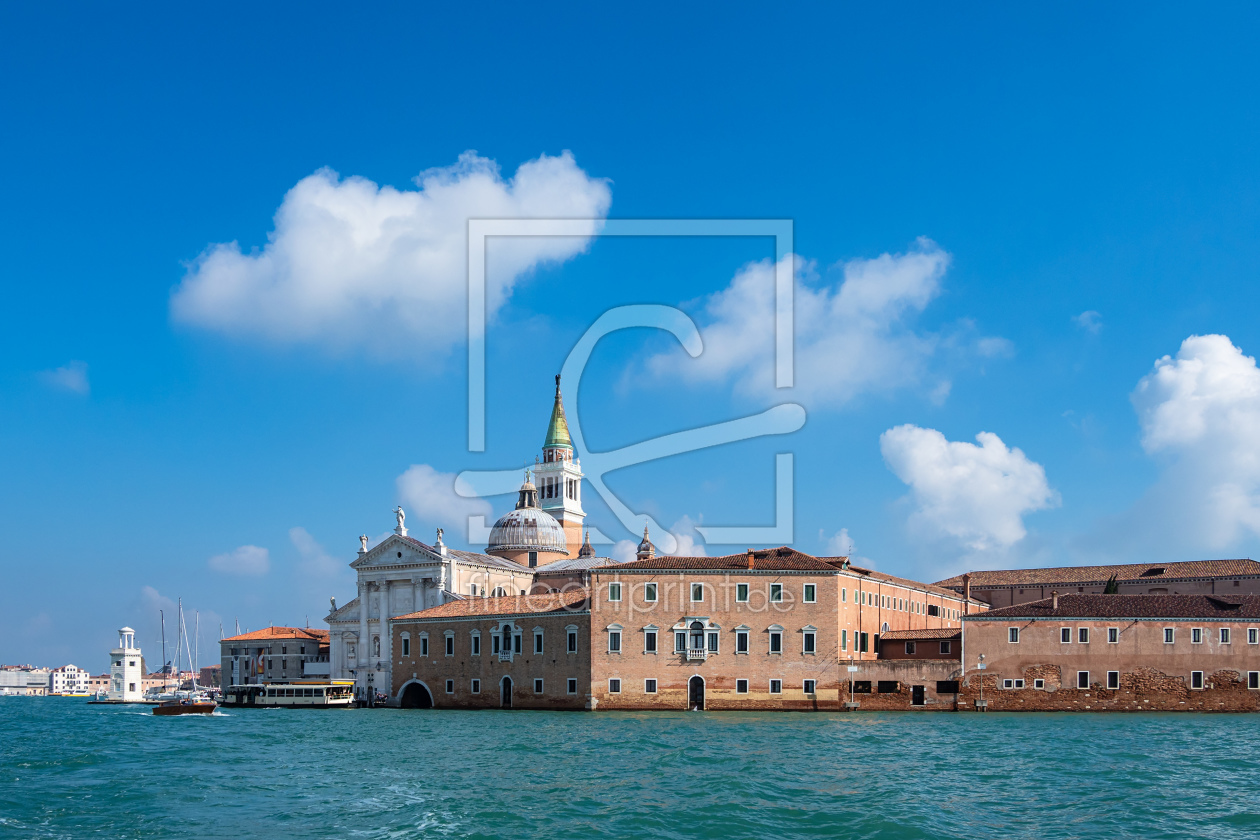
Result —
<svg viewBox="0 0 1260 840"><path fill-rule="evenodd" d="M1257 837L1260 715L0 698L0 837Z"/></svg>

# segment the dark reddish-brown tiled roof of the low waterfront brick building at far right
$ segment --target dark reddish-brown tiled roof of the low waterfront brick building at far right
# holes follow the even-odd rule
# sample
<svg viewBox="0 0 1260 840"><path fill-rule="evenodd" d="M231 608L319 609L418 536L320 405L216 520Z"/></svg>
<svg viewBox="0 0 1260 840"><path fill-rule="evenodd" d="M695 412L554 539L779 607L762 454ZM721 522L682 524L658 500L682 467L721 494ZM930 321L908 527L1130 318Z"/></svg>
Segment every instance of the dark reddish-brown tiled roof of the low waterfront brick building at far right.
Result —
<svg viewBox="0 0 1260 840"><path fill-rule="evenodd" d="M963 621L1005 618L1260 618L1260 596L1217 594L1061 594L1053 599L1002 607ZM882 637L881 637L882 639Z"/></svg>

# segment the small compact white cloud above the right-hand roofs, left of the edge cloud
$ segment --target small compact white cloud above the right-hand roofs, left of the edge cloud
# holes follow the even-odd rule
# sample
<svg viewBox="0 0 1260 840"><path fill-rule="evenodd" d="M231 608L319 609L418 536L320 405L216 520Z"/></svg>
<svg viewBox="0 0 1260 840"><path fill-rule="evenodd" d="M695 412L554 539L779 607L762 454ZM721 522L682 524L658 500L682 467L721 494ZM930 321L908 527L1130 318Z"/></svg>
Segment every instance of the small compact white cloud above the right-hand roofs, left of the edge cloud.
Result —
<svg viewBox="0 0 1260 840"><path fill-rule="evenodd" d="M897 426L879 436L885 463L910 485L914 524L976 552L1008 548L1027 534L1024 514L1058 504L1046 470L997 434L946 441L931 428Z"/></svg>

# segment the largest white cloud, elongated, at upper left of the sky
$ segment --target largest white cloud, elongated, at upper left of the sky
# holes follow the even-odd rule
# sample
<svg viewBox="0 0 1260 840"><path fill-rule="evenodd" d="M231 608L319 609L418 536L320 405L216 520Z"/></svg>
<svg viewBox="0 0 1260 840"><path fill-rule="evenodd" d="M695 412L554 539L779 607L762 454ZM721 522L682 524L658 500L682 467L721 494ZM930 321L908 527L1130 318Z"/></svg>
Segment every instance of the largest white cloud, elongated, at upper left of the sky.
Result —
<svg viewBox="0 0 1260 840"><path fill-rule="evenodd" d="M581 252L611 203L572 154L543 155L504 180L465 152L418 189L323 169L285 195L261 251L210 246L171 296L176 321L233 336L440 358L466 331L470 218L595 219L585 237L501 237L486 251L486 315L525 273Z"/></svg>

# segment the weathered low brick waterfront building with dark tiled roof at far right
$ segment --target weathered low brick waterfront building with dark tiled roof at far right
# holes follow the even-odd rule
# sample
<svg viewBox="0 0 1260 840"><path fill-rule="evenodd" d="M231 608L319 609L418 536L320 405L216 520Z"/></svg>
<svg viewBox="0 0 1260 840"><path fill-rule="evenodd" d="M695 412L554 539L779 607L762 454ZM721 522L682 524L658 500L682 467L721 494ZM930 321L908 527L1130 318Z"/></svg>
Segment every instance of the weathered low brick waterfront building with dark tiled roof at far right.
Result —
<svg viewBox="0 0 1260 840"><path fill-rule="evenodd" d="M990 710L1260 710L1260 596L1052 596L963 633L969 707L983 680Z"/></svg>

